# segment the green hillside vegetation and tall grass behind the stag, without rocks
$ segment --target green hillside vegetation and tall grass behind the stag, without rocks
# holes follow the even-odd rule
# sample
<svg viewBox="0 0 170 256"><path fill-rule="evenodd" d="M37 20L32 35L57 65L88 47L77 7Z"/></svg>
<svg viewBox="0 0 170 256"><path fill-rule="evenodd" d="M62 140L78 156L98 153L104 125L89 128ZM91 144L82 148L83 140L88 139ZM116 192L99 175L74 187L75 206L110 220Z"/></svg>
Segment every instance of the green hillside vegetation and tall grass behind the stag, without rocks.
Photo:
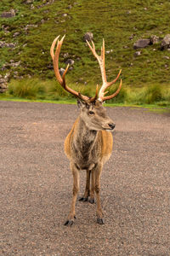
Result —
<svg viewBox="0 0 170 256"><path fill-rule="evenodd" d="M2 0L0 15L12 8L14 17L0 18L1 41L16 44L0 49L1 74L10 73L8 94L32 99L71 98L54 81L49 55L54 38L66 34L60 67L65 68L67 59L74 60L66 80L83 94L93 95L95 85L101 83L99 65L82 40L85 32L93 32L96 49L105 38L108 80L122 68L122 92L112 102L169 104L170 51L161 50L161 42L139 49L138 56L133 49L139 38L163 38L170 33L169 1ZM11 60L20 61L20 65L8 65Z"/></svg>

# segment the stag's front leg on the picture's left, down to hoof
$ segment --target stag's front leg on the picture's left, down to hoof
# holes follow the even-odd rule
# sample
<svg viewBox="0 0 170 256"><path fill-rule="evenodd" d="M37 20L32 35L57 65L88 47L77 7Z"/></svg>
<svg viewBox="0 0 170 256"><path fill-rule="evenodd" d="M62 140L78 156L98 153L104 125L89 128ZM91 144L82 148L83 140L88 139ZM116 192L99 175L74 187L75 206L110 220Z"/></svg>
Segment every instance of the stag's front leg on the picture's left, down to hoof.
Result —
<svg viewBox="0 0 170 256"><path fill-rule="evenodd" d="M75 205L77 201L77 194L79 190L79 171L75 164L71 163L71 171L73 175L73 189L72 189L72 201L71 201L71 211L69 213L68 219L65 222L65 226L71 226L76 218Z"/></svg>

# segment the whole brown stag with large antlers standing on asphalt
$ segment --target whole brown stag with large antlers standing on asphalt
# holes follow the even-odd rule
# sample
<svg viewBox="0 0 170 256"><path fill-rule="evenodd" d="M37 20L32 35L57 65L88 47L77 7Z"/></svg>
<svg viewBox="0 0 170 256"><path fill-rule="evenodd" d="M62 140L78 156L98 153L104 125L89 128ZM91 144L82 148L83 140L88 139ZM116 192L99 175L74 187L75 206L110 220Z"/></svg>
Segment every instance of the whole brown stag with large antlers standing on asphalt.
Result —
<svg viewBox="0 0 170 256"><path fill-rule="evenodd" d="M118 73L116 79L107 82L105 75L105 41L101 48L101 55L97 55L94 42L87 44L91 49L94 57L99 62L103 84L98 93L98 85L96 86L95 96L83 96L80 92L72 90L65 82L65 74L68 71L69 65L65 68L65 73L62 77L59 74L59 52L63 44L64 38L59 41L59 36L54 39L51 45L50 54L54 63L54 73L59 84L72 95L77 97L77 104L80 108L80 114L77 117L71 131L65 138L65 154L71 161L71 172L73 175L73 190L71 210L65 222L66 226L71 226L76 219L75 205L77 201L77 194L79 191L79 172L86 171L86 187L84 195L80 201L88 201L94 203L94 192L97 204L97 223L104 224L103 212L100 204L100 184L99 179L102 172L103 165L109 160L112 151L112 134L108 131L113 131L115 124L107 115L102 103L115 97L122 88L122 80L118 89L111 96L105 96L108 91L105 91L111 84L114 84L119 78L121 71ZM54 53L54 47L57 47Z"/></svg>

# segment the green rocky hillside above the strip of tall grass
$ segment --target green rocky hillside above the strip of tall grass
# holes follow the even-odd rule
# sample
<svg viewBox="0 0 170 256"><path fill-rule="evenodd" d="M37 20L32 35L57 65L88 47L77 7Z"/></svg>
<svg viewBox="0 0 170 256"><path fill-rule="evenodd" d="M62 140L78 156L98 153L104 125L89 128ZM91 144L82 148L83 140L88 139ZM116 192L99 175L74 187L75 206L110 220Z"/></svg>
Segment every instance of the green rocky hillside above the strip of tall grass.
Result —
<svg viewBox="0 0 170 256"><path fill-rule="evenodd" d="M100 83L87 32L96 49L105 38L108 79L122 68L124 84L170 84L169 17L166 0L1 0L0 87L12 78L54 78L49 48L59 34L66 34L60 67L71 62L67 79Z"/></svg>

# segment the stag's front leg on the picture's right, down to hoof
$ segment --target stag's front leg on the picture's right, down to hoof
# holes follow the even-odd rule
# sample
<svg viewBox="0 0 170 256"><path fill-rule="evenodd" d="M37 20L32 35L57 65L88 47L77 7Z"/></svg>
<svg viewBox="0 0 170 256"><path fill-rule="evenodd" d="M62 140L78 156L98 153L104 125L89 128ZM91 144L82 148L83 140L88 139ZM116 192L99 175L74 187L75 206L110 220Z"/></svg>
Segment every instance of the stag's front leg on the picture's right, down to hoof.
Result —
<svg viewBox="0 0 170 256"><path fill-rule="evenodd" d="M99 196L99 190L100 190L100 185L99 185L99 179L102 171L102 165L98 164L95 169L94 169L94 177L95 177L95 194L96 194L96 203L97 203L97 223L99 224L104 224L103 221L103 212L102 208L100 205L100 196Z"/></svg>

